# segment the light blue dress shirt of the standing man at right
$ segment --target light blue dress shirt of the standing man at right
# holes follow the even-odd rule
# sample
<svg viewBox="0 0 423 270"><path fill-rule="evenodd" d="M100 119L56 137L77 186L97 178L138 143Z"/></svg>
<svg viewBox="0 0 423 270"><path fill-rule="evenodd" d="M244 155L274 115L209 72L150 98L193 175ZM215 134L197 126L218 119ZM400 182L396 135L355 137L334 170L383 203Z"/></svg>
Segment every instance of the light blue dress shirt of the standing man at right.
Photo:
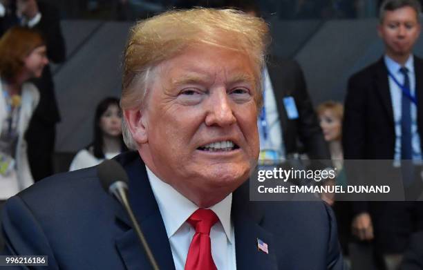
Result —
<svg viewBox="0 0 423 270"><path fill-rule="evenodd" d="M400 72L402 67L393 59L385 55L384 57L386 68L397 79L397 81L404 85L404 75ZM415 97L415 70L413 55L408 57L404 67L408 69L408 79L410 81L410 92ZM391 93L392 109L395 122L395 155L394 160L401 160L401 99L402 90L395 81L388 75L389 90ZM406 97L405 97L406 98ZM417 106L411 102L411 147L413 148L413 160L422 160L422 153L420 151L420 135L417 131ZM397 162L395 166L399 166Z"/></svg>

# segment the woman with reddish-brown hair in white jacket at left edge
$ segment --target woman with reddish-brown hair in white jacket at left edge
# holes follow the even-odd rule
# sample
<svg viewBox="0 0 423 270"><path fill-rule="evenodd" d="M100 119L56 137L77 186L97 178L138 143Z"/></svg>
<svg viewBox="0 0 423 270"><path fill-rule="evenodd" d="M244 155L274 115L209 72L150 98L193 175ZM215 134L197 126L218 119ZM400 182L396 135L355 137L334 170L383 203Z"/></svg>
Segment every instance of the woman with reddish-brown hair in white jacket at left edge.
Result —
<svg viewBox="0 0 423 270"><path fill-rule="evenodd" d="M10 28L0 39L0 207L1 201L33 184L24 135L39 101L28 79L48 64L39 33Z"/></svg>

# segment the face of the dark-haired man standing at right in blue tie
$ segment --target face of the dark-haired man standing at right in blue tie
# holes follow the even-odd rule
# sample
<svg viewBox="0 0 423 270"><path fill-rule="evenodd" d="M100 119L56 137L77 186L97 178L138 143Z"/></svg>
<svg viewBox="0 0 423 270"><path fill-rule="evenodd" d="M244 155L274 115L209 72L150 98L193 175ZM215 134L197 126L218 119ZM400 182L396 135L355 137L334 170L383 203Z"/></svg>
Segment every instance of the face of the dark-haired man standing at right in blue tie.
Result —
<svg viewBox="0 0 423 270"><path fill-rule="evenodd" d="M386 11L384 21L378 28L391 57L407 57L420 35L420 23L415 10L409 6Z"/></svg>

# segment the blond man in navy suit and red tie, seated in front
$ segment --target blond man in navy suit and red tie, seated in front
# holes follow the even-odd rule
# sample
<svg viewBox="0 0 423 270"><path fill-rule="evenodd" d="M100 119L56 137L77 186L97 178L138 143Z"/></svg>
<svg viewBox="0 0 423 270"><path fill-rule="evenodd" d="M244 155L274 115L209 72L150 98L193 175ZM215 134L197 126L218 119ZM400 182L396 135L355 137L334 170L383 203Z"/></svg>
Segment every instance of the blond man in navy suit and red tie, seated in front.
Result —
<svg viewBox="0 0 423 270"><path fill-rule="evenodd" d="M230 27L228 27L230 26ZM124 52L129 201L161 269L342 269L323 202L249 202L268 29L234 10L171 11L138 23ZM7 254L49 269L146 269L124 209L97 168L12 197Z"/></svg>

